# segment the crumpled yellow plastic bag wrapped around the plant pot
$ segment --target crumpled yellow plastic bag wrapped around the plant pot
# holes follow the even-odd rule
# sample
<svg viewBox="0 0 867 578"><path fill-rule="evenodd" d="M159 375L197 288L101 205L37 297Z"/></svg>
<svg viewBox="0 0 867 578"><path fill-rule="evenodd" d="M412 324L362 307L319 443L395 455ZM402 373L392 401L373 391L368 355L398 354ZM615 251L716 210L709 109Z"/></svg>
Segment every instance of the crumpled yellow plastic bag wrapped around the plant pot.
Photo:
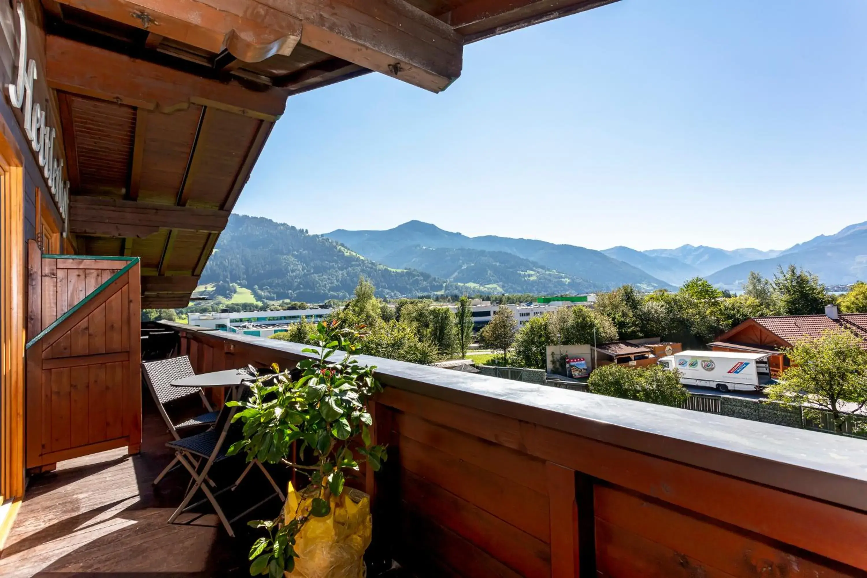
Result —
<svg viewBox="0 0 867 578"><path fill-rule="evenodd" d="M300 507L299 507L300 502ZM310 510L312 498L302 501L289 484L284 505L284 520L288 523ZM346 489L340 497L331 497L328 516L311 516L296 537L295 569L287 572L293 578L364 578L364 550L370 545L373 521L370 517L370 497L363 491Z"/></svg>

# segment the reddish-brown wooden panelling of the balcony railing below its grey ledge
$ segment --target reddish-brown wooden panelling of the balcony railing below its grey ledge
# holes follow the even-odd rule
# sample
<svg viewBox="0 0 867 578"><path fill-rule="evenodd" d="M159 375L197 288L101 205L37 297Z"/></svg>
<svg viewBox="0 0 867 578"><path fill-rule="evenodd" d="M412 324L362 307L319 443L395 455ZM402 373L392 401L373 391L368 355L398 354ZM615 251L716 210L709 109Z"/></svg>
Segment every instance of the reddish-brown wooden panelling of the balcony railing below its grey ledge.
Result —
<svg viewBox="0 0 867 578"><path fill-rule="evenodd" d="M297 356L181 331L197 372ZM420 576L863 576L867 512L386 385L374 544ZM636 431L636 436L649 435ZM832 480L823 483L832 484Z"/></svg>

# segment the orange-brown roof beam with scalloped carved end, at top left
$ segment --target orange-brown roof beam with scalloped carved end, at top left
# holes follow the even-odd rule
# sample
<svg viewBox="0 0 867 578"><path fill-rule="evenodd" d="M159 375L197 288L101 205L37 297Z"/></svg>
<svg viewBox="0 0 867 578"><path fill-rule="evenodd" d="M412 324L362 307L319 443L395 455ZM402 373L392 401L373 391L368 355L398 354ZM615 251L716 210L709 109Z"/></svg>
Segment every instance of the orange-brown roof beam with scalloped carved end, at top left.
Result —
<svg viewBox="0 0 867 578"><path fill-rule="evenodd" d="M59 0L59 2L110 20L146 29L152 36L172 38L215 54L228 49L231 55L244 62L261 62L273 55L288 56L292 54L292 50L301 38L301 22L297 18L281 14L276 10L267 10L257 6L251 0L235 2L244 4L245 9L235 14L225 10L225 7L221 8L218 4L208 5L198 0ZM257 13L266 10L265 18L255 17ZM153 42L156 40L154 39Z"/></svg>

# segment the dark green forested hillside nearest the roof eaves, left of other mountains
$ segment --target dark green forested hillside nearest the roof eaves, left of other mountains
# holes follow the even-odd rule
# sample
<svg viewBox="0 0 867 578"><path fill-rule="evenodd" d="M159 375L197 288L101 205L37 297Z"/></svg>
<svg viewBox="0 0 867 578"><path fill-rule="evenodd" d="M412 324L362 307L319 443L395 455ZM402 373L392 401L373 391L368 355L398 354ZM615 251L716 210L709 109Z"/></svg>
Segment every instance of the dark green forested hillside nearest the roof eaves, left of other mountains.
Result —
<svg viewBox="0 0 867 578"><path fill-rule="evenodd" d="M231 215L200 283L237 283L257 299L348 299L358 277L394 298L430 294L444 282L417 270L392 270L335 241L267 218Z"/></svg>

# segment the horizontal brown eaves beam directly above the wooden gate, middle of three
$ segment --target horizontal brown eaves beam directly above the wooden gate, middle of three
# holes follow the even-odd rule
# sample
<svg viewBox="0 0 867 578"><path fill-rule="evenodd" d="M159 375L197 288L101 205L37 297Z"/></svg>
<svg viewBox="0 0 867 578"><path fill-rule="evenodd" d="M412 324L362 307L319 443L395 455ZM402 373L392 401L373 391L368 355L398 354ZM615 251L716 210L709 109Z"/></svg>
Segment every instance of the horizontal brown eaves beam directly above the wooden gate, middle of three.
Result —
<svg viewBox="0 0 867 578"><path fill-rule="evenodd" d="M116 198L69 198L69 230L100 237L147 237L160 229L219 232L229 211L152 205Z"/></svg>

